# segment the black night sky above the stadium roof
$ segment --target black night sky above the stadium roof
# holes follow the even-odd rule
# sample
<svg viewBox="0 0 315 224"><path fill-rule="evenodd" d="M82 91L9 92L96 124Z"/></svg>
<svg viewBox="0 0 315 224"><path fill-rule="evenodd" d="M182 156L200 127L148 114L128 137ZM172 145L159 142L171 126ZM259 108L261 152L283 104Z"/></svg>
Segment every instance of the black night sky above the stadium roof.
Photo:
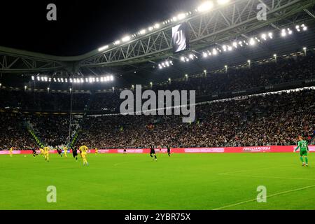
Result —
<svg viewBox="0 0 315 224"><path fill-rule="evenodd" d="M196 8L202 0L41 0L0 3L0 45L51 55L80 55ZM55 3L57 21L46 19Z"/></svg>

